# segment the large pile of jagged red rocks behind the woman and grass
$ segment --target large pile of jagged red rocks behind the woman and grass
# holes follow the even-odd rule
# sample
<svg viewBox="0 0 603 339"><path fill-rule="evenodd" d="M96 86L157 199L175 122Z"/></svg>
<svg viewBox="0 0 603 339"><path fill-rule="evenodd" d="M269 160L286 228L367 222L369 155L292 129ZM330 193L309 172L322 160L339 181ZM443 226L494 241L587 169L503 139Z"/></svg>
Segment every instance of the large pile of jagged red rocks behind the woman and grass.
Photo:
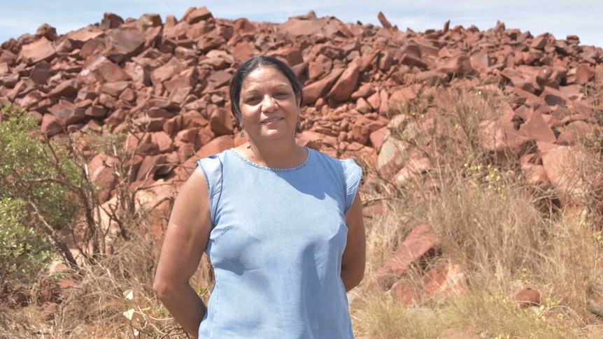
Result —
<svg viewBox="0 0 603 339"><path fill-rule="evenodd" d="M161 165L190 168L199 157L243 142L229 112L229 81L248 57L272 55L304 79L304 145L335 157L364 157L397 185L421 182L434 165L405 152L410 146L390 134L407 123L397 115L400 104L432 107L426 117L434 124L460 88L504 92L511 102L502 114L479 124L488 140L483 147L520 158L519 171L532 185L575 189L566 166L576 140L603 135L603 98L589 92L603 87L601 48L580 45L577 36L532 36L502 23L488 31L446 23L415 32L400 31L381 13L378 18L383 27L312 12L271 24L223 20L207 8L190 8L180 20L170 15L164 21L153 14L123 20L106 13L99 24L61 36L43 25L35 35L1 45L0 102L39 117L51 137L115 131L127 120L144 126L149 133L141 129L144 152L133 180L150 175L152 185L182 171ZM430 123L415 124L416 133ZM110 160L99 155L90 164L105 200L115 184L104 171ZM432 252L429 233L425 226L409 236L397 259L380 271L381 288L410 289L396 281L404 265ZM449 266L428 273L424 285L439 288L442 279L460 276Z"/></svg>

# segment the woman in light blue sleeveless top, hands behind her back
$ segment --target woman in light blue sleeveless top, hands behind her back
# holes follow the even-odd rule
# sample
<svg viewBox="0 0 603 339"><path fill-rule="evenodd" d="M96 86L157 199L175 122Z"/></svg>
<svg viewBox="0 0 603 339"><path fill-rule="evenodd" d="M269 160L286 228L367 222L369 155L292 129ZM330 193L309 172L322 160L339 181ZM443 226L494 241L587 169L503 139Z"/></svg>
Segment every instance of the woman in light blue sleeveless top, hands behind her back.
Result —
<svg viewBox="0 0 603 339"><path fill-rule="evenodd" d="M248 142L201 159L174 203L153 289L201 338L353 338L364 275L360 167L297 145L302 86L272 57L241 65L232 113ZM189 284L208 254L208 307Z"/></svg>

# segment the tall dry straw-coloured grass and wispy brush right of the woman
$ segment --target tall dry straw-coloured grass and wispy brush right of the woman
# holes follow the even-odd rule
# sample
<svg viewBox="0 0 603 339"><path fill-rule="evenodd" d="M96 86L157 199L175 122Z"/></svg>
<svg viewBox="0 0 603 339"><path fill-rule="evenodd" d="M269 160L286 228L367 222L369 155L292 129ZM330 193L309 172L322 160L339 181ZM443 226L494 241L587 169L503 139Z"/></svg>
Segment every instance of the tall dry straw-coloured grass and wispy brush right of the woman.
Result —
<svg viewBox="0 0 603 339"><path fill-rule="evenodd" d="M603 322L588 308L590 298L603 292L602 224L593 209L601 195L592 185L603 168L600 139L591 136L575 146L579 152L573 154L592 154L572 161L583 183L579 196L535 189L525 185L518 157L495 154L478 132L483 121L502 114L505 97L481 89L451 93L457 101L448 110L420 95L400 108L411 119L392 134L437 164L425 173L437 189L397 190L386 212L371 220L367 276L414 226L430 224L441 242L441 255L432 264L462 267L468 290L419 307L387 293L366 294L353 313L357 337L601 338ZM427 120L440 128L418 133L415 127ZM558 199L579 203L558 209ZM418 281L421 274L411 270L403 279ZM520 308L513 294L522 287L537 289L541 305Z"/></svg>

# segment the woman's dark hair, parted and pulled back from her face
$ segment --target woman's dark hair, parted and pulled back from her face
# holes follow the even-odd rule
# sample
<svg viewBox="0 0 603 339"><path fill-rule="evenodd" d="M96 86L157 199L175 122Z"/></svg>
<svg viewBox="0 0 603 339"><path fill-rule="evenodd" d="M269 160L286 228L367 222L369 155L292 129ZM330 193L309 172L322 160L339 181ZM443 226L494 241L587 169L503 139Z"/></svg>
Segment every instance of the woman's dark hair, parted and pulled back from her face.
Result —
<svg viewBox="0 0 603 339"><path fill-rule="evenodd" d="M232 115L234 115L236 118L236 122L239 122L239 124L241 123L241 106L239 106L239 101L241 100L241 88L243 87L243 81L245 81L249 73L255 71L261 66L274 67L283 73L285 78L289 80L291 87L293 88L293 92L295 93L295 99L299 100L300 105L304 99L302 97L302 83L299 82L297 76L295 73L293 73L292 69L287 66L287 64L281 62L281 60L276 59L275 57L252 57L242 64L238 70L236 70L230 85L230 110L232 111Z"/></svg>

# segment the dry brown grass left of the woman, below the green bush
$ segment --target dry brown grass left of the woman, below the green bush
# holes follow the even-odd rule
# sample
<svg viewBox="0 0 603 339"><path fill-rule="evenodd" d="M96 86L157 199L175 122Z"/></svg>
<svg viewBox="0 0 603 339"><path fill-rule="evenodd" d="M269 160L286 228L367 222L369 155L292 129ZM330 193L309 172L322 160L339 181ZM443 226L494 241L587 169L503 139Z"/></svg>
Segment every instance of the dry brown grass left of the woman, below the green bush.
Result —
<svg viewBox="0 0 603 339"><path fill-rule="evenodd" d="M145 224L132 230L129 240L115 243L108 259L63 274L78 284L60 303L55 319L44 322L36 304L1 310L0 338L190 338L152 291L160 244ZM212 281L204 258L191 282L204 293ZM133 298L127 301L128 290ZM123 314L129 308L134 309L132 321Z"/></svg>

